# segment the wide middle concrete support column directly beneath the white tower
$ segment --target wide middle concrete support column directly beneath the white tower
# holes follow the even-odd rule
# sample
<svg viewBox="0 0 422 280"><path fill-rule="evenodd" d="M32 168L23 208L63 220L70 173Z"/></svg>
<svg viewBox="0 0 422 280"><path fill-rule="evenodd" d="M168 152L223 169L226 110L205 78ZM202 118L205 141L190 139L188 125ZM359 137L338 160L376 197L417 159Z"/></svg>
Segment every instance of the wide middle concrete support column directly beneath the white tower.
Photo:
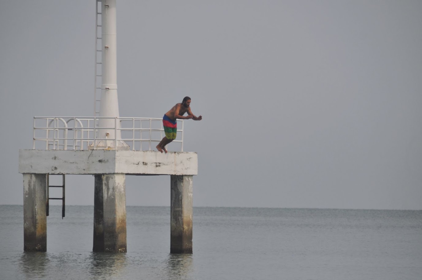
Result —
<svg viewBox="0 0 422 280"><path fill-rule="evenodd" d="M95 175L94 252L126 252L126 175Z"/></svg>

